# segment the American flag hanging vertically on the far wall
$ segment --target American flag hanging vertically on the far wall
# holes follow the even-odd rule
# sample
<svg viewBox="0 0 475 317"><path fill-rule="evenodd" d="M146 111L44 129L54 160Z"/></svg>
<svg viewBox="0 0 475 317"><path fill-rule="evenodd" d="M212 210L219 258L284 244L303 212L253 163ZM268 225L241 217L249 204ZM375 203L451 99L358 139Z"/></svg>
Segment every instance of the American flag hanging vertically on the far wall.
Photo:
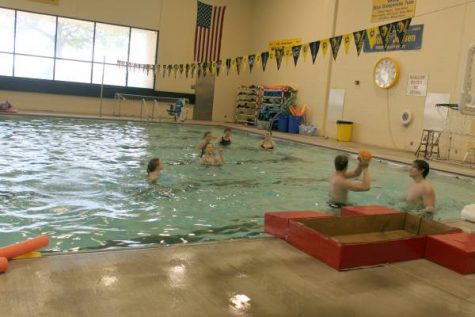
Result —
<svg viewBox="0 0 475 317"><path fill-rule="evenodd" d="M195 61L209 62L219 59L225 6L210 6L198 1L195 30Z"/></svg>

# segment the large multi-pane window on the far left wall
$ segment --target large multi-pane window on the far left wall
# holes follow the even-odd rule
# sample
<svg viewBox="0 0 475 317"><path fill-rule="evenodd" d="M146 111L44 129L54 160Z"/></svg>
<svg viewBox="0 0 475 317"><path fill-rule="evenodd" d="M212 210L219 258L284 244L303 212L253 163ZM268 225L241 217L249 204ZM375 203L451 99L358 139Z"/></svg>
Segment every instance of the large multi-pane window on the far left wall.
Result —
<svg viewBox="0 0 475 317"><path fill-rule="evenodd" d="M0 8L0 75L153 88L157 31Z"/></svg>

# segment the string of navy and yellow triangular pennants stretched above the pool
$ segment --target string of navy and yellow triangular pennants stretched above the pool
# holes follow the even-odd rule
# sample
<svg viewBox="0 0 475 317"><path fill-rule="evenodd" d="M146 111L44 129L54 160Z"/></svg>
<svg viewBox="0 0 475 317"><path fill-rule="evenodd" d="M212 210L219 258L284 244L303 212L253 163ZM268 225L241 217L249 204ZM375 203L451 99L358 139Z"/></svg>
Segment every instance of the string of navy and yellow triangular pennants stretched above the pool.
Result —
<svg viewBox="0 0 475 317"><path fill-rule="evenodd" d="M411 22L412 19L408 17L404 20L304 44L301 44L300 39L274 41L271 42L273 49L267 52L227 58L225 60L208 59L200 61L199 63L166 65L130 63L118 60L117 66L126 68L128 72L142 71L146 73L147 76L152 73L155 77L159 77L161 71L163 78L165 78L165 76L172 78L172 72L173 78L176 78L177 73L182 76L183 72L185 72L186 78L189 78L190 74L191 78L193 78L195 73L198 77L207 76L208 74L219 76L221 68L224 66L226 67L227 75L229 75L229 72L233 69L236 70L238 75L246 68L252 73L254 67L259 63L261 63L262 71L265 71L269 60L273 61L274 59L276 61L277 70L280 70L282 59L285 58L285 62L287 63L290 57L293 58L294 66L296 67L300 54L303 55L303 60L306 62L309 52L312 56L312 64L315 64L319 50L321 49L323 55L326 56L328 47L331 47L333 59L336 61L342 43L345 54L348 54L351 43L354 43L358 56L361 54L362 49L364 49L365 52L420 49L422 46L422 32L424 26L417 25L413 28ZM352 37L353 40L351 39Z"/></svg>

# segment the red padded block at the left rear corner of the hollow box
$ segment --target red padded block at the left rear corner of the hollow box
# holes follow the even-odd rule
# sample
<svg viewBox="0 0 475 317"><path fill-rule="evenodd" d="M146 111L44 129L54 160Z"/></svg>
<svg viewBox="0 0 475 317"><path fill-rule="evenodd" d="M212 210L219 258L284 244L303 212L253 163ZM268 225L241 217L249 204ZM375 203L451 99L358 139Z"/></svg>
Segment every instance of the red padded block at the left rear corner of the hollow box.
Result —
<svg viewBox="0 0 475 317"><path fill-rule="evenodd" d="M278 238L286 239L291 220L328 218L331 215L318 211L269 211L264 216L264 231Z"/></svg>

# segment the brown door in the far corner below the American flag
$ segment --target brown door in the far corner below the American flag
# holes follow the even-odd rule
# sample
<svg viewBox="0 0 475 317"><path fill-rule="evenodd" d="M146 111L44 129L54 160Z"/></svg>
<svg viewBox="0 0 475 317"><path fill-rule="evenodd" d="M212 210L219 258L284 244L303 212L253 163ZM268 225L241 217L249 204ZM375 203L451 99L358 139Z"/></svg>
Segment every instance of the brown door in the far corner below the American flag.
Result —
<svg viewBox="0 0 475 317"><path fill-rule="evenodd" d="M214 76L207 74L206 77L196 78L195 97L193 120L211 121L213 118Z"/></svg>

